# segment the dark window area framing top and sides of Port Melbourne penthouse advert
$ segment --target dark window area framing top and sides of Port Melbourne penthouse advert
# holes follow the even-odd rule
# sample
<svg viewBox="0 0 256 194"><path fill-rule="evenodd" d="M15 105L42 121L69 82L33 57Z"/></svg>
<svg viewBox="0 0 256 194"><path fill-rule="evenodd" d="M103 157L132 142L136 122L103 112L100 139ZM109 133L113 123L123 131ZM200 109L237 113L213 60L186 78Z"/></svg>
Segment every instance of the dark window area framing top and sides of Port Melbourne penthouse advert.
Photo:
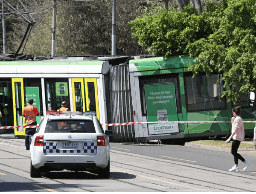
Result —
<svg viewBox="0 0 256 194"><path fill-rule="evenodd" d="M143 116L147 114L146 101L145 101L145 85L148 84L166 84L175 83L175 95L177 112L181 113L181 103L180 103L180 85L178 81L178 74L166 74L166 75L156 75L156 76L143 76L140 77L140 100L141 100L141 110Z"/></svg>

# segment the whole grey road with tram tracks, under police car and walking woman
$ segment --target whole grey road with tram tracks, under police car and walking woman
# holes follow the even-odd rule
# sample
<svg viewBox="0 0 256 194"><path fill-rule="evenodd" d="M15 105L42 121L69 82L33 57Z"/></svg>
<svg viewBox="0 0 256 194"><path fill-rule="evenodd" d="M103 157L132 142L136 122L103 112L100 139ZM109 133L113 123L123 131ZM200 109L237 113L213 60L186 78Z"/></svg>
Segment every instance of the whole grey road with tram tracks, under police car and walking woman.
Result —
<svg viewBox="0 0 256 194"><path fill-rule="evenodd" d="M176 145L111 143L109 179L70 171L31 178L24 139L0 139L0 191L256 191L255 156L246 157L251 160L248 171L234 173L227 171L233 165L230 153Z"/></svg>

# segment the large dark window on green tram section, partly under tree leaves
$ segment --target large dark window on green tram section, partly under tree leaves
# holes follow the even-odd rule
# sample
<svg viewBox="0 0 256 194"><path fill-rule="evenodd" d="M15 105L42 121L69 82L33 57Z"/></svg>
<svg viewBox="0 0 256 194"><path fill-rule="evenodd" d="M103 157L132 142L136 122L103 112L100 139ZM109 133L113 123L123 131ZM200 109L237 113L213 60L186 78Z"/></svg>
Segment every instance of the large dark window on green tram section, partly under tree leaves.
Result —
<svg viewBox="0 0 256 194"><path fill-rule="evenodd" d="M198 75L186 74L185 90L187 111L226 109L226 99L221 98L223 84L221 75L212 74Z"/></svg>

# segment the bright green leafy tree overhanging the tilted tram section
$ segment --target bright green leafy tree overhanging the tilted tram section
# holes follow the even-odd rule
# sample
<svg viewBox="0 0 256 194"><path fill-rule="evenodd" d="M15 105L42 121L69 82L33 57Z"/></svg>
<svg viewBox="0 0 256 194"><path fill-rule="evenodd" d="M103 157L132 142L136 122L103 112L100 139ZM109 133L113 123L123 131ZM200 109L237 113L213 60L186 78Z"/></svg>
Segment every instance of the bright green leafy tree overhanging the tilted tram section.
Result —
<svg viewBox="0 0 256 194"><path fill-rule="evenodd" d="M254 1L208 1L198 14L189 4L144 14L131 22L133 37L155 55L190 55L189 70L223 74L228 101L256 89L256 7Z"/></svg>

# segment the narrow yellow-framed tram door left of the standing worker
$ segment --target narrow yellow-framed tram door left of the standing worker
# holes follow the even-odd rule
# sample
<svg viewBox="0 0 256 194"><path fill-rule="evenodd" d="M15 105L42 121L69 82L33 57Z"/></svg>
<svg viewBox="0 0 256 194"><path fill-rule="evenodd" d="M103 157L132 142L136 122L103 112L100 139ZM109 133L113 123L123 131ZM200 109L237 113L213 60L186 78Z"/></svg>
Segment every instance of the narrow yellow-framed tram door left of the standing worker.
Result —
<svg viewBox="0 0 256 194"><path fill-rule="evenodd" d="M23 126L25 119L22 116L24 109L24 85L23 78L12 78L12 93L13 93L13 119L15 126ZM25 135L25 128L14 130L15 135Z"/></svg>

